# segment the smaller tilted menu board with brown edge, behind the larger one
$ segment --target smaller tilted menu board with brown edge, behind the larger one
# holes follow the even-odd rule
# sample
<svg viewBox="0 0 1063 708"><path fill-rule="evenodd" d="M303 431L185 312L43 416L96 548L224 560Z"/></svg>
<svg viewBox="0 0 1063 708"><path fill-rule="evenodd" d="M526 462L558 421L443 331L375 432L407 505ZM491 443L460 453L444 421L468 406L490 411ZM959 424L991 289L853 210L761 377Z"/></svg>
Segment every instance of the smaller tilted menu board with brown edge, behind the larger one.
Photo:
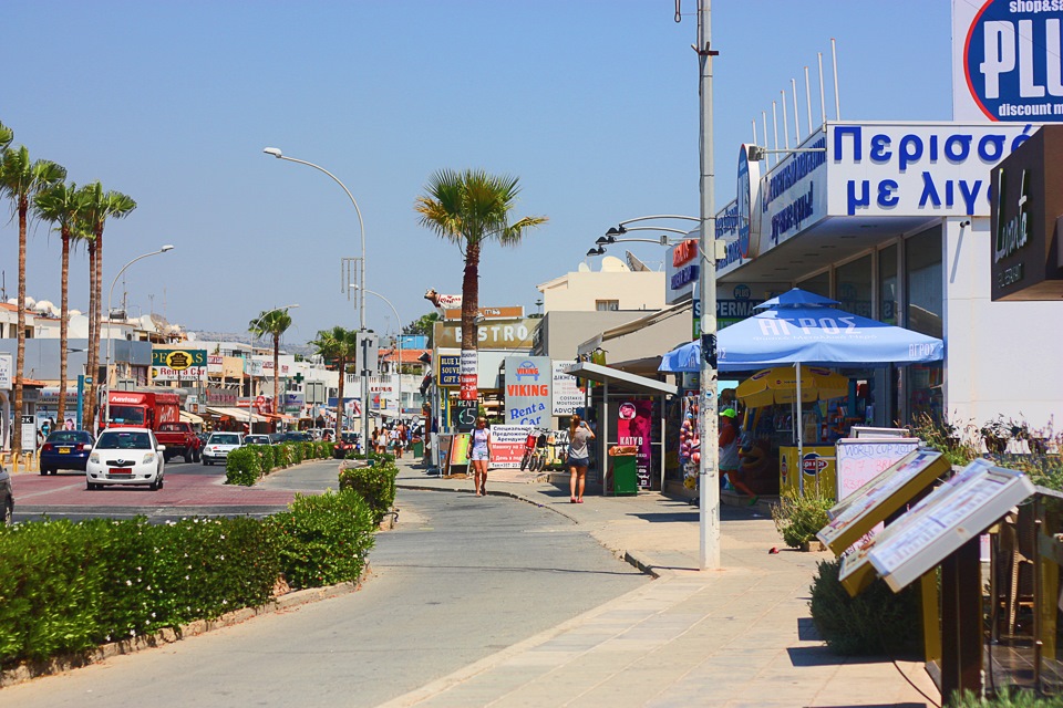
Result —
<svg viewBox="0 0 1063 708"><path fill-rule="evenodd" d="M830 523L816 538L840 554L949 468L949 461L937 450L908 452L832 508L827 512Z"/></svg>

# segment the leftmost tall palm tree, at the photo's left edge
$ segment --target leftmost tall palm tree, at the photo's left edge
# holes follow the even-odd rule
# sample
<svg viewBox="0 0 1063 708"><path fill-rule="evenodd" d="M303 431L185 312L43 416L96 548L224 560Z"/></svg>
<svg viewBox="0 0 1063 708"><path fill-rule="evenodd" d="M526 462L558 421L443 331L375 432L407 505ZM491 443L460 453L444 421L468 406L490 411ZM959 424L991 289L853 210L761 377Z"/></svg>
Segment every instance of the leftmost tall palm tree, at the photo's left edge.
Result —
<svg viewBox="0 0 1063 708"><path fill-rule="evenodd" d="M25 230L30 200L52 185L66 179L66 168L47 159L30 162L25 146L6 149L0 158L0 195L11 199L19 215L19 331L14 365L14 415L22 415L22 366L25 361ZM18 419L18 418L16 418ZM11 450L22 450L22 426L14 426Z"/></svg>

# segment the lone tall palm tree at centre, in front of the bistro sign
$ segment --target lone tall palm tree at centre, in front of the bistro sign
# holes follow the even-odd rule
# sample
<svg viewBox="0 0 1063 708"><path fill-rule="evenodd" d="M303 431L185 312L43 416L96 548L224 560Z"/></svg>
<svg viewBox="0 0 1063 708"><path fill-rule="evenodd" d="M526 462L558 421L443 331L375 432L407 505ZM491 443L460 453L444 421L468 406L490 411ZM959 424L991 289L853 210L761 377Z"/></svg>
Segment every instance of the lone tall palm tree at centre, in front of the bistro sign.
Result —
<svg viewBox="0 0 1063 708"><path fill-rule="evenodd" d="M442 170L417 197L414 210L421 226L453 243L465 256L462 279L462 393L463 400L476 400L476 314L479 310L479 254L484 241L516 246L525 232L546 217L523 217L509 221L520 188L516 177L488 175L484 170Z"/></svg>

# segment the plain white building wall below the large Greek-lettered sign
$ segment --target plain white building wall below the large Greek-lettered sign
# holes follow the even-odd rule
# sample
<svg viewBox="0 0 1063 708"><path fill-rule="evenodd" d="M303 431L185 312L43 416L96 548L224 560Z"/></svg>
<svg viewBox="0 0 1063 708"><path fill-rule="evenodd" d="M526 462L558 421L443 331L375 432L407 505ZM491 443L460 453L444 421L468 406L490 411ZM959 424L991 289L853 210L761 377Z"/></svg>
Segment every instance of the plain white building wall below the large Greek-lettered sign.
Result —
<svg viewBox="0 0 1063 708"><path fill-rule="evenodd" d="M990 301L989 218L945 227L945 400L950 419L998 415L1063 429L1063 302Z"/></svg>

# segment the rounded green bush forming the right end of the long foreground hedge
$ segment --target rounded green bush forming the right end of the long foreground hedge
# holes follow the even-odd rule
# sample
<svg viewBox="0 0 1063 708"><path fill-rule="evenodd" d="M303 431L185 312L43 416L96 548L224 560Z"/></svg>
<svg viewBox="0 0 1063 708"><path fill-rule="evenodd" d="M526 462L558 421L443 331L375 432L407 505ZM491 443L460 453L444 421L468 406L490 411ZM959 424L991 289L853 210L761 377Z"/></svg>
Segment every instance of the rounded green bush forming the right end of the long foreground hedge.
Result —
<svg viewBox="0 0 1063 708"><path fill-rule="evenodd" d="M279 540L280 566L292 587L355 581L373 545L373 512L353 491L296 497L269 518Z"/></svg>

